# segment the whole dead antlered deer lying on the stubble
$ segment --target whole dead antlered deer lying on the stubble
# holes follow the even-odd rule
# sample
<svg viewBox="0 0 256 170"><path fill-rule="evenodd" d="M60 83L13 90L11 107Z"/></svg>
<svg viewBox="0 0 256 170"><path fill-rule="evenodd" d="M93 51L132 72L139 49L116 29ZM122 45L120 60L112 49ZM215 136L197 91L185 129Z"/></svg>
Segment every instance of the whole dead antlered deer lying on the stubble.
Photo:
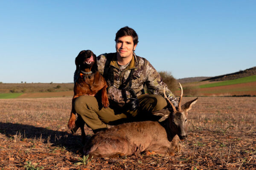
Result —
<svg viewBox="0 0 256 170"><path fill-rule="evenodd" d="M166 97L164 88L164 96L172 108L154 112L154 115L161 116L158 122L131 122L98 132L85 145L84 154L89 154L90 157L114 157L153 151L161 155L174 156L179 150L178 142L187 137L186 116L198 99L181 106L183 96L181 85L180 89L178 110Z"/></svg>

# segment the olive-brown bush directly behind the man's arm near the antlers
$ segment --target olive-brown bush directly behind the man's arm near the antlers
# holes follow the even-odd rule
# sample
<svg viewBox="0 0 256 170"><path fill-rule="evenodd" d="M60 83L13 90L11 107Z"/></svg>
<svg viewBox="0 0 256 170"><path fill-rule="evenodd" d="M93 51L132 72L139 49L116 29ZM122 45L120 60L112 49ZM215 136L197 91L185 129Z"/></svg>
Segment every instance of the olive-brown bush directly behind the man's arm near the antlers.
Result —
<svg viewBox="0 0 256 170"><path fill-rule="evenodd" d="M169 90L172 92L177 90L177 80L172 76L171 72L160 71L159 74L163 79L163 82L168 86Z"/></svg>

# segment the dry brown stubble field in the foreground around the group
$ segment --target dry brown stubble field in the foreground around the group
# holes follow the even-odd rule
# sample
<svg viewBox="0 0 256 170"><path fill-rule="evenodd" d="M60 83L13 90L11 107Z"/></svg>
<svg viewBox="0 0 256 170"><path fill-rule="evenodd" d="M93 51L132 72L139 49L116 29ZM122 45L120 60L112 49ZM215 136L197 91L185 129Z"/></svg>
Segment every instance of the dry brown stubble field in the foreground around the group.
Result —
<svg viewBox="0 0 256 170"><path fill-rule="evenodd" d="M67 129L71 97L0 99L0 169L256 169L255 105L256 97L199 97L188 115L188 138L176 156L89 162L81 160L79 133ZM85 132L93 134L87 127Z"/></svg>

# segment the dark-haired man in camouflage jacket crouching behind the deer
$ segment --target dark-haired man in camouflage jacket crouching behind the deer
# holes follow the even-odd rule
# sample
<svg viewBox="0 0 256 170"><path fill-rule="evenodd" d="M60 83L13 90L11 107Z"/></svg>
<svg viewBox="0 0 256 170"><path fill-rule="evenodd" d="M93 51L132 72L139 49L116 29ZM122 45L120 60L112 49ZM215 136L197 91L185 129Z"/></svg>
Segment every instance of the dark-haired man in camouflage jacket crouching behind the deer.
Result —
<svg viewBox="0 0 256 170"><path fill-rule="evenodd" d="M146 120L151 112L167 106L163 98L166 84L148 60L134 53L137 33L126 26L117 31L115 41L116 53L97 57L98 70L108 84L110 107L101 107L95 96L79 96L75 101L79 119L83 119L94 133L122 120ZM144 85L151 94L143 94ZM177 99L168 88L166 95L177 107Z"/></svg>

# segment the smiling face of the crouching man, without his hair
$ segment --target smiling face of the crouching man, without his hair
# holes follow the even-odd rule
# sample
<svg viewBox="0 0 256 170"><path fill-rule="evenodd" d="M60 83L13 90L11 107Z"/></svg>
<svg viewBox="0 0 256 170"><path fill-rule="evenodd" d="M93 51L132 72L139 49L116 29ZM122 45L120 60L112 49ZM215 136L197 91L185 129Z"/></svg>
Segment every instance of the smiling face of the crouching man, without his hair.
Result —
<svg viewBox="0 0 256 170"><path fill-rule="evenodd" d="M137 44L134 45L131 36L119 37L116 40L116 52L117 56L121 58L132 57L133 51L135 50Z"/></svg>

